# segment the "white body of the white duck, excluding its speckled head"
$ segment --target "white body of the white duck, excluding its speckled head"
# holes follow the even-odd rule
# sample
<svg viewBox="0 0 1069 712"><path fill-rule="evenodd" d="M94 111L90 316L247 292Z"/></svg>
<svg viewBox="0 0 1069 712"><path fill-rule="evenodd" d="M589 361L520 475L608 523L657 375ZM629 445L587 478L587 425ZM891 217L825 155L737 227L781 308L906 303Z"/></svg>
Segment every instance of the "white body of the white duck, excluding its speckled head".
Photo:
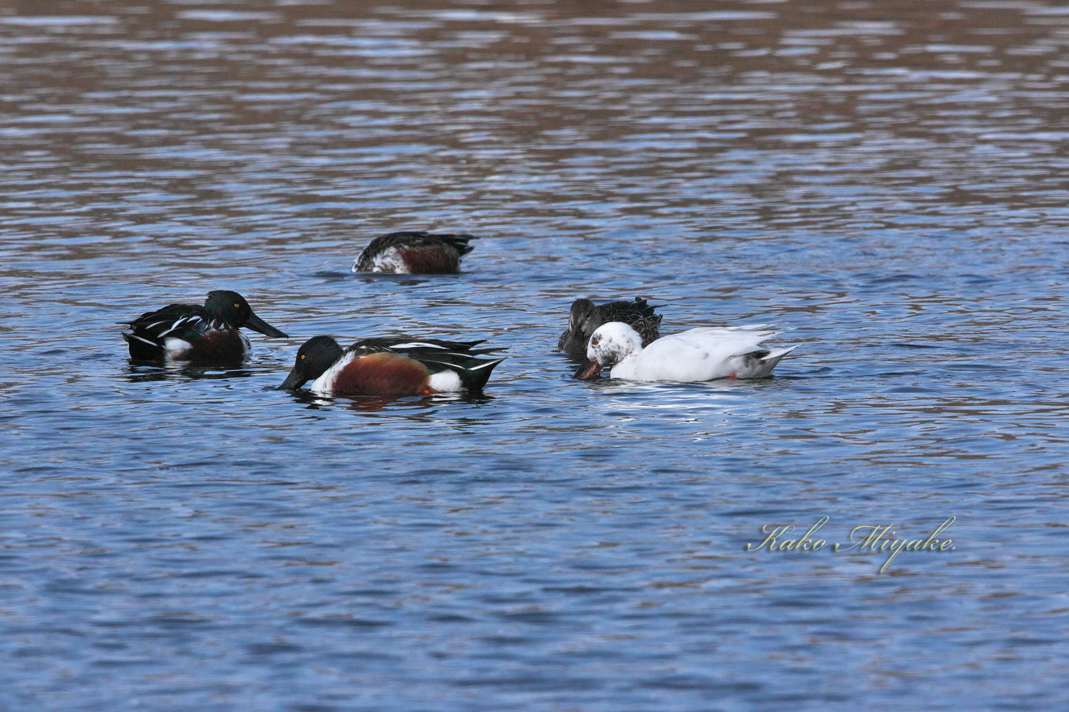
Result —
<svg viewBox="0 0 1069 712"><path fill-rule="evenodd" d="M670 334L620 364L613 376L640 381L709 381L738 376L768 376L779 359L763 362L770 350L761 342L774 331L702 328ZM779 354L780 358L784 354ZM631 363L628 363L631 362Z"/></svg>

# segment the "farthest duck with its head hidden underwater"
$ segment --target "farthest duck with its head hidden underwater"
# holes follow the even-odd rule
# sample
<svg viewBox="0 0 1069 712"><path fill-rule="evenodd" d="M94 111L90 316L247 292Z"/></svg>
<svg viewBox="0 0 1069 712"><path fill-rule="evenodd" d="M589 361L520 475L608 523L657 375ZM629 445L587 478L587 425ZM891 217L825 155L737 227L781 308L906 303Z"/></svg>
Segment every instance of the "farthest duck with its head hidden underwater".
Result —
<svg viewBox="0 0 1069 712"><path fill-rule="evenodd" d="M424 232L389 233L373 239L353 263L353 272L391 274L455 274L461 257L475 248L471 235Z"/></svg>

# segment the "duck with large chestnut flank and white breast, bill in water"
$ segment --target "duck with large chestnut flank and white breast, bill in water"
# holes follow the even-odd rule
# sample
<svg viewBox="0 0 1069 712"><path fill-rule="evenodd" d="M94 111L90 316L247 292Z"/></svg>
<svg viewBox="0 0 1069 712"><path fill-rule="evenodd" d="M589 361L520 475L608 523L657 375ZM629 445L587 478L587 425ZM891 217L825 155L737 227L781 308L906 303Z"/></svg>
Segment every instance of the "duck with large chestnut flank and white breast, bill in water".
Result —
<svg viewBox="0 0 1069 712"><path fill-rule="evenodd" d="M330 336L313 336L297 351L279 389L312 381L317 395L409 396L480 391L501 359L480 359L482 342L435 338L365 338L342 349Z"/></svg>

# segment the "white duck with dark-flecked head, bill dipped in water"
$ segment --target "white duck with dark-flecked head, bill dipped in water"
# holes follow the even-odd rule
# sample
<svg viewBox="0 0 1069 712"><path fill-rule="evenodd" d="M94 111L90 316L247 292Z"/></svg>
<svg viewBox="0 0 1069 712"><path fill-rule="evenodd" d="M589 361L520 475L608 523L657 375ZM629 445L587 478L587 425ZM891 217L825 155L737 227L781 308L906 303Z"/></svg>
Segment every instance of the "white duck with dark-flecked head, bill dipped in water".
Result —
<svg viewBox="0 0 1069 712"><path fill-rule="evenodd" d="M770 349L761 344L778 332L766 325L691 329L662 336L645 349L642 338L620 321L599 327L587 346L589 364L576 377L589 379L602 366L616 364L609 375L632 381L709 381L714 378L763 378L796 346Z"/></svg>

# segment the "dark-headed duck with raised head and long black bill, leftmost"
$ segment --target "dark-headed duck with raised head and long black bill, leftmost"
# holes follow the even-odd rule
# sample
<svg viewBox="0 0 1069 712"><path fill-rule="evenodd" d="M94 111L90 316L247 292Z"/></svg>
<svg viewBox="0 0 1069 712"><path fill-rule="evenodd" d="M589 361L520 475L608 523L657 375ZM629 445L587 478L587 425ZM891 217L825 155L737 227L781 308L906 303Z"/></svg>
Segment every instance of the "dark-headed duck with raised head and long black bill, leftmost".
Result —
<svg viewBox="0 0 1069 712"><path fill-rule="evenodd" d="M249 353L249 339L242 327L266 336L286 335L253 312L236 291L216 289L207 292L204 305L168 304L145 312L129 322L123 338L130 358L173 361L239 361Z"/></svg>

